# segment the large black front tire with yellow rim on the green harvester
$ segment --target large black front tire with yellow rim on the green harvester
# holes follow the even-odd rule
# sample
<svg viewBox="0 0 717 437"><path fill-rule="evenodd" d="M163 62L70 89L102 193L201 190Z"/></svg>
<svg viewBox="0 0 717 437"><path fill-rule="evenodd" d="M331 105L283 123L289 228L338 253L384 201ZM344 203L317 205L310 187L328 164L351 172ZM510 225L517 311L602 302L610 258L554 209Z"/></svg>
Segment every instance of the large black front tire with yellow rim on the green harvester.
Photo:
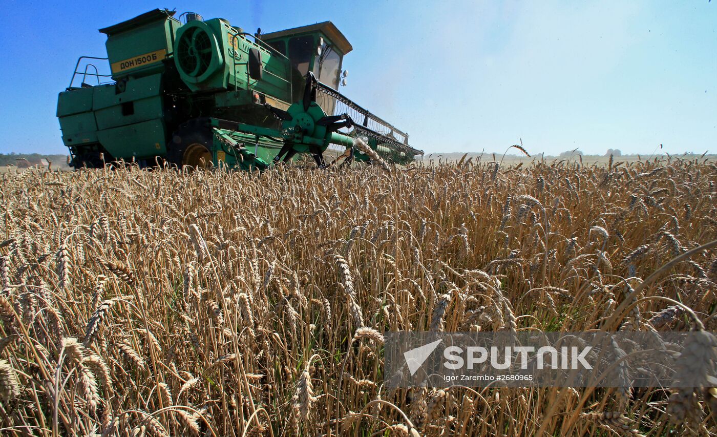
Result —
<svg viewBox="0 0 717 437"><path fill-rule="evenodd" d="M179 126L167 145L167 161L178 169L212 166L212 130L206 118L197 118Z"/></svg>

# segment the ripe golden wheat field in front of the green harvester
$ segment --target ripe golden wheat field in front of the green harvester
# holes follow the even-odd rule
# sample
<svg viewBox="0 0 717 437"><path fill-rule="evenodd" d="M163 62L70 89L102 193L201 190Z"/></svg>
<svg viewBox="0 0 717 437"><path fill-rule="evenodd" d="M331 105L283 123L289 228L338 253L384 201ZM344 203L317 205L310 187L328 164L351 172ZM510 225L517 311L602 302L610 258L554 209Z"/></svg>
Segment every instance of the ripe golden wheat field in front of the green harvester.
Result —
<svg viewBox="0 0 717 437"><path fill-rule="evenodd" d="M709 161L0 179L3 435L717 435L716 388L382 373L389 331L716 330Z"/></svg>

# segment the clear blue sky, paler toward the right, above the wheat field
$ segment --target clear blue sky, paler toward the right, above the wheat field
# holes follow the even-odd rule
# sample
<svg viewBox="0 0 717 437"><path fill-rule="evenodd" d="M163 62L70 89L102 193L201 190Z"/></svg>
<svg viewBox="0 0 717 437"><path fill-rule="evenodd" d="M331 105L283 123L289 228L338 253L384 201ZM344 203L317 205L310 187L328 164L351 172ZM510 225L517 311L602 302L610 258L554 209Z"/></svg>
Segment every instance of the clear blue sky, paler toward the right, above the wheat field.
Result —
<svg viewBox="0 0 717 437"><path fill-rule="evenodd" d="M66 153L77 58L156 7L251 32L331 20L353 45L341 91L427 153L717 152L717 1L5 0L0 153Z"/></svg>

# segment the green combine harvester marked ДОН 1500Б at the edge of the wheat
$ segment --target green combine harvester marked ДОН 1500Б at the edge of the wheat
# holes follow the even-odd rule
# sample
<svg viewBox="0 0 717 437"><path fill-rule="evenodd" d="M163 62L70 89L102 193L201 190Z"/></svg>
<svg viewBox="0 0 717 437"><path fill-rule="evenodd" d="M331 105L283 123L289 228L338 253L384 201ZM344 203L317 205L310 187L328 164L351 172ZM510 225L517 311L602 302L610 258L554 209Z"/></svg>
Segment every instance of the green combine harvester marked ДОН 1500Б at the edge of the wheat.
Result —
<svg viewBox="0 0 717 437"><path fill-rule="evenodd" d="M423 153L338 92L352 47L331 22L248 34L225 19L174 15L155 9L100 29L108 57L77 60L57 102L76 169L120 159L265 169L298 154L322 167L330 144L337 155L343 148L343 163L370 164L354 150L357 137L389 161ZM108 60L111 74L96 60Z"/></svg>

